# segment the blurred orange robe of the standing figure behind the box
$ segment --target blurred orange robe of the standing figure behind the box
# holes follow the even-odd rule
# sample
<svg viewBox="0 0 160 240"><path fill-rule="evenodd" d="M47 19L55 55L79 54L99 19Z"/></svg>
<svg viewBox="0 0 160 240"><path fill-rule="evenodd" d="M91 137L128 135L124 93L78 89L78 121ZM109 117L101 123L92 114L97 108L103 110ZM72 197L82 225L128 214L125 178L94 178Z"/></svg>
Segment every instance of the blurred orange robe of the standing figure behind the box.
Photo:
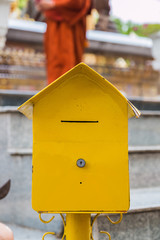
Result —
<svg viewBox="0 0 160 240"><path fill-rule="evenodd" d="M48 84L81 62L86 34L86 15L91 0L54 0L45 12L45 52Z"/></svg>

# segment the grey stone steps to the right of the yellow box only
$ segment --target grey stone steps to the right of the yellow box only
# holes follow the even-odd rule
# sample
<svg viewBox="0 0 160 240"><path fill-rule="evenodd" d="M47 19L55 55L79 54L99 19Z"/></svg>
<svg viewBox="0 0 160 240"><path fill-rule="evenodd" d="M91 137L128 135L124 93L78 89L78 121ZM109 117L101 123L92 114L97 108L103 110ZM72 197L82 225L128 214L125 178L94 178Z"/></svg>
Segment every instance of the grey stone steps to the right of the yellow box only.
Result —
<svg viewBox="0 0 160 240"><path fill-rule="evenodd" d="M118 225L105 215L95 223L95 239L106 239L100 230L118 240L160 239L160 112L142 111L129 120L130 210ZM117 216L111 216L113 220Z"/></svg>

